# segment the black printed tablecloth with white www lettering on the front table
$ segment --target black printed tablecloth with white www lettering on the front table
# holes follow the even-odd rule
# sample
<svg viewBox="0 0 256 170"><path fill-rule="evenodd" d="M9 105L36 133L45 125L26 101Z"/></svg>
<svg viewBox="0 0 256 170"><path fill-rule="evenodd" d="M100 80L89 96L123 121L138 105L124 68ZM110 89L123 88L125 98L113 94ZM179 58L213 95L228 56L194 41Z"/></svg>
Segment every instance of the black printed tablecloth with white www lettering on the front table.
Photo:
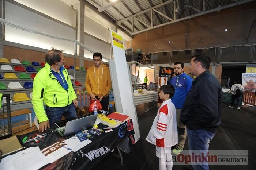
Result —
<svg viewBox="0 0 256 170"><path fill-rule="evenodd" d="M100 128L100 126L99 126ZM23 139L24 136L28 136L28 139L38 131L30 132L20 136ZM42 133L41 133L42 134ZM106 157L111 150L116 148L126 137L129 138L129 145L132 151L135 151L135 140L134 140L134 130L132 120L122 123L117 128L114 128L113 131L108 133L103 133L101 136L94 136L90 138L92 142L76 152L70 152L64 157L58 159L57 161L42 167L41 169L91 169L97 163L99 163L104 157ZM25 143L25 147L39 146L40 150L56 143L65 140L57 132L50 132L47 134L44 140L39 143L34 141L30 143ZM105 151L105 153L102 152Z"/></svg>

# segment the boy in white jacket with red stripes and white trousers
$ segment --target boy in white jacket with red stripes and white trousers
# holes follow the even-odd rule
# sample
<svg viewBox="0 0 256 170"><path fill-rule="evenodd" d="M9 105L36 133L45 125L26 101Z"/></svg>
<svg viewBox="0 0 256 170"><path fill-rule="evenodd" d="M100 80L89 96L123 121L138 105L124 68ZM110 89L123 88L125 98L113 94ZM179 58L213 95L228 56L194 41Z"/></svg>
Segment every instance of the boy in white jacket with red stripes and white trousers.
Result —
<svg viewBox="0 0 256 170"><path fill-rule="evenodd" d="M159 170L172 170L172 149L178 143L175 106L171 99L174 94L172 85L160 87L159 97L163 100L157 111L153 125L146 140L156 146L156 156L159 158Z"/></svg>

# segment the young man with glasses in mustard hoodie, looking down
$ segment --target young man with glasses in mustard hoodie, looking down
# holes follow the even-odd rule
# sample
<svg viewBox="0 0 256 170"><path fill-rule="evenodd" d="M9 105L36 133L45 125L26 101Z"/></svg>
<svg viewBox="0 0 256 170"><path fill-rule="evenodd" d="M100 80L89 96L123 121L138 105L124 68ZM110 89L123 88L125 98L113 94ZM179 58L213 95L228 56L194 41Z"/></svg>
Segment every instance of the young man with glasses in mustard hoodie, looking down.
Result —
<svg viewBox="0 0 256 170"><path fill-rule="evenodd" d="M109 68L102 64L101 53L93 54L94 65L87 69L85 86L92 100L99 100L102 110L108 111L111 78Z"/></svg>

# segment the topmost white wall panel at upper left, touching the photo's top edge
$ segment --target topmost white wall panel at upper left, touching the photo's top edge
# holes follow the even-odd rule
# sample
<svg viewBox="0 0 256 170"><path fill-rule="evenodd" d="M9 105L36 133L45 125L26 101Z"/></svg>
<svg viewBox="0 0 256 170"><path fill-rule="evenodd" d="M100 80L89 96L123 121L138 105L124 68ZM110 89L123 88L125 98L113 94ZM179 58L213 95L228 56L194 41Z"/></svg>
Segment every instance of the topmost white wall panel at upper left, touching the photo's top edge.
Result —
<svg viewBox="0 0 256 170"><path fill-rule="evenodd" d="M15 0L36 11L42 12L52 18L60 20L70 26L74 26L75 12L61 0Z"/></svg>

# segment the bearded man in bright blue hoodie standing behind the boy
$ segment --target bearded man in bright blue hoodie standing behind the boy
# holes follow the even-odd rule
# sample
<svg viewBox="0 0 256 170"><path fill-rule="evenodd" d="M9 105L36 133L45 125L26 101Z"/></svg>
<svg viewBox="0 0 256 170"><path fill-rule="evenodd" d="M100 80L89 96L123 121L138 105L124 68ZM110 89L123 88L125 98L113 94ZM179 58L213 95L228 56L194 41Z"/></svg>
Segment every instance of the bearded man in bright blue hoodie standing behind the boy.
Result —
<svg viewBox="0 0 256 170"><path fill-rule="evenodd" d="M186 126L180 122L180 114L187 94L192 86L193 79L184 73L184 63L174 63L175 76L170 80L170 84L174 87L175 93L172 97L172 102L176 108L177 125L178 125L178 140L179 143L173 149L173 154L180 154L183 151L185 140L187 137Z"/></svg>

